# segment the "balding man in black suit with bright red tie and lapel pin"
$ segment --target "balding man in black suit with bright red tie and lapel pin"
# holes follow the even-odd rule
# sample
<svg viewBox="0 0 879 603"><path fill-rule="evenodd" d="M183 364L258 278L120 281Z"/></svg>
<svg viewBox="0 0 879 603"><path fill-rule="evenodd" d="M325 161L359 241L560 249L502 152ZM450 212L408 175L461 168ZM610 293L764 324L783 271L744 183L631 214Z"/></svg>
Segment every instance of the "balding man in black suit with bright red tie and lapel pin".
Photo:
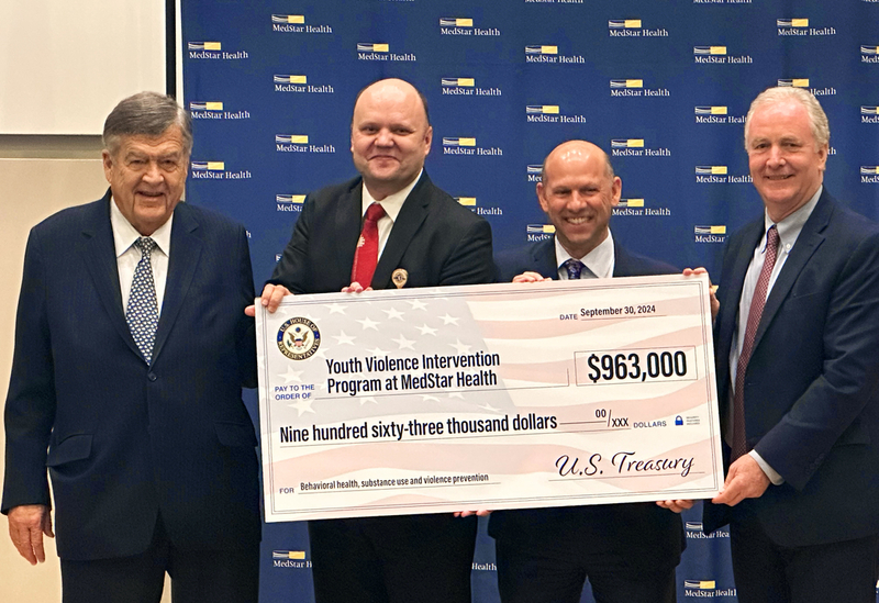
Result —
<svg viewBox="0 0 879 603"><path fill-rule="evenodd" d="M351 134L360 177L308 197L263 291L269 312L290 292L491 282L488 223L423 169L432 137L410 83L386 79L360 92ZM309 535L319 603L470 601L476 517L320 521Z"/></svg>

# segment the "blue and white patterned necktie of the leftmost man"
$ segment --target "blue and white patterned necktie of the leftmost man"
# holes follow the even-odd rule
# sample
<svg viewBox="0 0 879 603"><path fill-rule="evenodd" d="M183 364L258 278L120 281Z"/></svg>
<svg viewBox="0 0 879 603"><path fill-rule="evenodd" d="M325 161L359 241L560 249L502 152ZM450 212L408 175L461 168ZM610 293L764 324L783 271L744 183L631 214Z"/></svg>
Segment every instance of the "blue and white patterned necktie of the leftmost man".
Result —
<svg viewBox="0 0 879 603"><path fill-rule="evenodd" d="M131 281L125 320L129 323L131 336L137 344L137 349L141 350L148 365L153 361L153 344L156 340L156 327L158 326L156 284L153 281L153 265L149 263L153 249L157 245L148 236L142 236L134 242L134 246L141 250L141 261L137 263L134 278Z"/></svg>

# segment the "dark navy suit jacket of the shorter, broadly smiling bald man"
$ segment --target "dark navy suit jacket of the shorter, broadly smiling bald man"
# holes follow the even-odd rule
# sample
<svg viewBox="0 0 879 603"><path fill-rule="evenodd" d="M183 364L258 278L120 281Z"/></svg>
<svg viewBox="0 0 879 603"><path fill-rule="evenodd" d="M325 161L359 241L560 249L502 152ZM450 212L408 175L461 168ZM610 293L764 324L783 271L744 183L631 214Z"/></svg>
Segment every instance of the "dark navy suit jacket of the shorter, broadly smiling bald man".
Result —
<svg viewBox="0 0 879 603"><path fill-rule="evenodd" d="M668 264L626 252L616 239L613 254L614 277L679 272ZM557 279L555 239L499 254L496 265L499 282L510 282L528 270ZM488 531L494 538L514 539L526 548L619 552L635 567L650 570L677 566L686 546L680 515L654 503L496 511Z"/></svg>

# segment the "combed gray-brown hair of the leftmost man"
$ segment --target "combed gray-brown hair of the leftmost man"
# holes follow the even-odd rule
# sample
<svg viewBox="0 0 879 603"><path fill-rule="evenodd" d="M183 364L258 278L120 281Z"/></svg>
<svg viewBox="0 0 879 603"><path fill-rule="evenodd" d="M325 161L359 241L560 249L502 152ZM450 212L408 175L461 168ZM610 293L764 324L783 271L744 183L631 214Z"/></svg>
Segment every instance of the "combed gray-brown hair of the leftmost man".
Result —
<svg viewBox="0 0 879 603"><path fill-rule="evenodd" d="M158 92L138 92L122 100L103 122L103 146L115 155L127 136L157 138L171 126L178 126L183 149L192 150L192 119L171 97Z"/></svg>

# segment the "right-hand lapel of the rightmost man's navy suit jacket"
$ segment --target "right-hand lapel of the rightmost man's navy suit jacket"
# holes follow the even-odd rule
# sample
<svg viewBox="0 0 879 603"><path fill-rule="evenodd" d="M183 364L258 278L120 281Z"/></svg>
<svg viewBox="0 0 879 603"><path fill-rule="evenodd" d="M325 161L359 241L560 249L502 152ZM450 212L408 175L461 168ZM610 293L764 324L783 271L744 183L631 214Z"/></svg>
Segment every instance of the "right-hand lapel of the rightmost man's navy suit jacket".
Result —
<svg viewBox="0 0 879 603"><path fill-rule="evenodd" d="M803 268L809 263L809 258L811 258L821 244L824 243L823 232L832 215L833 203L831 202L830 194L827 194L825 190L821 193L821 199L815 205L815 209L812 210L812 215L810 215L809 220L803 224L803 230L800 231L800 236L797 237L797 243L793 245L790 256L788 256L788 259L785 261L785 266L781 267L781 271L778 273L772 290L769 291L769 297L763 310L763 316L760 316L760 324L757 327L757 333L754 338L755 348L760 344L763 334L766 333L769 323L772 322L772 317L776 315L779 308L781 308L781 303L788 297L788 293L790 293L800 272L802 272Z"/></svg>

